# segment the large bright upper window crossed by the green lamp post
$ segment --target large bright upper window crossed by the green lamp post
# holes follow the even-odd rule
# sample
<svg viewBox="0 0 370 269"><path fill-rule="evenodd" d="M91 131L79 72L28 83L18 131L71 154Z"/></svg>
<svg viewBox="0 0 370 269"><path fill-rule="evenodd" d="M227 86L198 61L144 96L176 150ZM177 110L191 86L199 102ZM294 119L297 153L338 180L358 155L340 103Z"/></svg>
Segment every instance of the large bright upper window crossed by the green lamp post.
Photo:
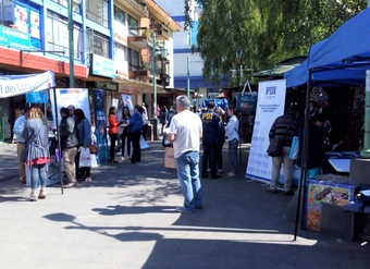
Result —
<svg viewBox="0 0 370 269"><path fill-rule="evenodd" d="M46 24L47 33L47 50L65 51L64 56L69 56L69 27L67 19L51 11L48 11L48 19ZM78 24L74 24L73 39L74 39L74 58L81 60L83 53L83 38Z"/></svg>

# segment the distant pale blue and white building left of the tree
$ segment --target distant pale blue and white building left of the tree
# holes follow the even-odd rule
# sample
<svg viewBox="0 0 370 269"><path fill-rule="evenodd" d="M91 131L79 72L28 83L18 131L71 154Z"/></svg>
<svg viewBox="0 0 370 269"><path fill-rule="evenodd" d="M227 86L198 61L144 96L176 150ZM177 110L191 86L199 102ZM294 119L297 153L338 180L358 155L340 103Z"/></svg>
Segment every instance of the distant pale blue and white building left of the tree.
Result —
<svg viewBox="0 0 370 269"><path fill-rule="evenodd" d="M186 89L189 83L193 97L202 96L203 98L217 96L219 87L211 83L205 83L202 77L203 62L197 52L193 52L192 48L197 48L198 19L201 15L201 9L195 0L188 0L190 8L189 16L193 21L193 28L184 29L185 9L184 0L156 0L171 15L172 20L177 22L183 28L181 32L173 34L174 57L176 63L174 66L174 87L177 89ZM221 81L219 86L224 86L225 82ZM201 103L203 98L194 98L194 105Z"/></svg>

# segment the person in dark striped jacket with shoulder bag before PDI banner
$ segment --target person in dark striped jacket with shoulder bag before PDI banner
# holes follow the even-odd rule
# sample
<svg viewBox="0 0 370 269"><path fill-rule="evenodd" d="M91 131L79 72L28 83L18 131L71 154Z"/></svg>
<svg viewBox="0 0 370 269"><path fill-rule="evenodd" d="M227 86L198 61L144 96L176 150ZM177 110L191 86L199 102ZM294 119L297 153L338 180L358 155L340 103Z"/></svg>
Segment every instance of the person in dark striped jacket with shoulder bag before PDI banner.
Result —
<svg viewBox="0 0 370 269"><path fill-rule="evenodd" d="M269 133L269 138L274 139L283 137L282 154L276 157L272 157L272 171L271 183L266 191L270 193L276 193L276 185L280 178L280 170L282 163L284 163L284 193L286 195L293 194L292 192L292 172L294 168L294 161L289 158L292 140L294 136L298 135L298 129L300 122L297 119L297 109L291 107L287 109L284 115L278 117L272 124Z"/></svg>

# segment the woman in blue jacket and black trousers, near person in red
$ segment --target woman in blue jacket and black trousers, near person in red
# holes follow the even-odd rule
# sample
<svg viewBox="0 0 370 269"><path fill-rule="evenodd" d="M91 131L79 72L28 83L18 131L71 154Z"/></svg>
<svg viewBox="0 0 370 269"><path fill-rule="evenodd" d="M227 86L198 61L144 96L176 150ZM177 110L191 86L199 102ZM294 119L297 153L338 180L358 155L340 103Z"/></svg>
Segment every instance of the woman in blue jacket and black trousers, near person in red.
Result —
<svg viewBox="0 0 370 269"><path fill-rule="evenodd" d="M135 105L134 114L128 124L130 140L133 143L133 157L131 163L141 161L140 136L143 134L143 108L139 105Z"/></svg>

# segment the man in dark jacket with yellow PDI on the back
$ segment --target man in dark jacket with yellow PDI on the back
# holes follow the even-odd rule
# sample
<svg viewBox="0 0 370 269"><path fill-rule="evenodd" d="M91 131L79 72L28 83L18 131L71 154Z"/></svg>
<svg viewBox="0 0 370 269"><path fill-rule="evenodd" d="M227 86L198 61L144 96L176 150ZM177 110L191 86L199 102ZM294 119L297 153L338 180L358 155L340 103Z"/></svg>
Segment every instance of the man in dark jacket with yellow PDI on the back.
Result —
<svg viewBox="0 0 370 269"><path fill-rule="evenodd" d="M207 110L201 113L201 122L203 130L202 146L203 146L203 157L201 160L201 176L208 178L207 167L210 163L211 179L219 179L220 175L217 173L217 159L218 150L217 143L221 135L221 124L220 117L214 112L214 102L209 101L207 105Z"/></svg>

